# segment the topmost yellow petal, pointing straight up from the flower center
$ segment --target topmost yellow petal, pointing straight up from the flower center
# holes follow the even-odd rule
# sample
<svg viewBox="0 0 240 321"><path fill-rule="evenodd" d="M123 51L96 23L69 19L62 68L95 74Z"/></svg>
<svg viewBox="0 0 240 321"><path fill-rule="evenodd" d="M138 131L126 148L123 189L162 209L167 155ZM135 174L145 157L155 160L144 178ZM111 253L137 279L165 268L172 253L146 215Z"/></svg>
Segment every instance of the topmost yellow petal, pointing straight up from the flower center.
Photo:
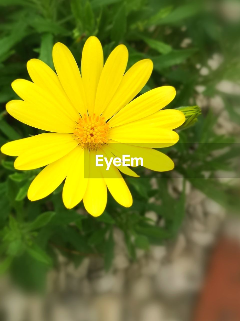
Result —
<svg viewBox="0 0 240 321"><path fill-rule="evenodd" d="M103 69L103 52L98 38L89 37L82 53L82 79L86 94L88 114L93 113L97 87Z"/></svg>

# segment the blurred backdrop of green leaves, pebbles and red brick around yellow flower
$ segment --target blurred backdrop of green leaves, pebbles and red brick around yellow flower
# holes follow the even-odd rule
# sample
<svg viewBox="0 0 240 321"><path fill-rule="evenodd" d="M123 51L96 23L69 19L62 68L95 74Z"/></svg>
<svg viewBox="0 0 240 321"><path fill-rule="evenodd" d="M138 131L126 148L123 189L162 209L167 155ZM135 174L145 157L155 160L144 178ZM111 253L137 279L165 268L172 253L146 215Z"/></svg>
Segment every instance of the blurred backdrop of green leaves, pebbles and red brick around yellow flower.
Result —
<svg viewBox="0 0 240 321"><path fill-rule="evenodd" d="M0 320L239 321L240 1L0 0L0 12L0 145L42 132L5 103L29 59L53 68L57 41L79 67L89 36L105 59L124 43L128 67L153 60L141 93L172 85L168 108L200 108L164 149L174 171L139 168L132 207L109 195L99 218L66 210L62 186L31 203L39 170L0 155Z"/></svg>

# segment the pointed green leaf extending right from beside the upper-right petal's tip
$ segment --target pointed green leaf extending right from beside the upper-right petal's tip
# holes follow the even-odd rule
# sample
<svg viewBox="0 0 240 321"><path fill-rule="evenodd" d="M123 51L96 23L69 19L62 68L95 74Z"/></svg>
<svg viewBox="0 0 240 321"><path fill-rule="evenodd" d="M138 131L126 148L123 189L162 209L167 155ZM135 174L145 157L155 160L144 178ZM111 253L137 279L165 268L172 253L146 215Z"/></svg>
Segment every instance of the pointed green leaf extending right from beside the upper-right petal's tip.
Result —
<svg viewBox="0 0 240 321"><path fill-rule="evenodd" d="M195 48L172 50L166 55L152 57L151 59L153 61L154 69L157 71L162 71L164 68L181 64L195 52Z"/></svg>

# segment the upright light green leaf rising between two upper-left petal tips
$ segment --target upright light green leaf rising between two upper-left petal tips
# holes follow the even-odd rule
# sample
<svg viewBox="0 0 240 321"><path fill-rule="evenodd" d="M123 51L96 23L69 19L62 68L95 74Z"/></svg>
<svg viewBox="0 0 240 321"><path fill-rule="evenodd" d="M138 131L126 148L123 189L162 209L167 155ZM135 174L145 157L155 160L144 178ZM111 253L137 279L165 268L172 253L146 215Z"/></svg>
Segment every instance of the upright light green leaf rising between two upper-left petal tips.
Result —
<svg viewBox="0 0 240 321"><path fill-rule="evenodd" d="M53 35L52 33L44 33L41 36L41 47L38 59L42 60L45 64L53 69L52 61L52 47L53 47Z"/></svg>

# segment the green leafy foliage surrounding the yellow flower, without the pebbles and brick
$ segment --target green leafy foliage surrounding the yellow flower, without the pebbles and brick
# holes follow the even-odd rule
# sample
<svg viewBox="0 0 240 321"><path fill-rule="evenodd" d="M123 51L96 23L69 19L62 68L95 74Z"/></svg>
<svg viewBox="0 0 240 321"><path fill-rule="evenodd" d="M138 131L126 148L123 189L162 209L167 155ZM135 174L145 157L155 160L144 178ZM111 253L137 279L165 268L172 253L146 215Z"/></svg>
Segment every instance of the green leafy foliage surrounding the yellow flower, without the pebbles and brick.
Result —
<svg viewBox="0 0 240 321"><path fill-rule="evenodd" d="M5 103L16 99L11 82L29 79L27 61L39 58L53 68L52 46L60 41L80 65L90 35L100 39L105 59L118 43L124 43L129 50L128 67L146 57L153 60L153 74L141 93L173 85L177 96L170 108L176 108L196 105L196 85L204 85L204 96L220 95L230 119L239 124L240 115L234 108L239 107L238 96L216 89L222 79L239 82L240 74L240 22L227 22L221 5L224 1L0 0L0 145L42 132L5 111ZM181 48L185 38L192 42ZM204 77L199 75L196 64L206 66L216 52L224 57L220 67ZM82 204L66 210L62 186L43 200L28 201L28 187L39 170L17 171L12 158L1 154L0 274L9 271L25 289L44 291L46 272L58 265L56 249L76 265L84 256L100 255L108 270L114 255L114 226L124 231L134 260L136 248L148 250L150 243L160 244L176 236L185 215L186 180L235 212L239 190L229 180L216 184L214 178L216 171L236 170L233 160L239 155L239 145L235 137L215 134L216 122L211 108L204 109L194 126L180 131L180 142L165 149L184 177L177 199L167 188L169 181L176 179L172 173L139 169L140 178L126 178L134 199L132 207L125 209L108 195L106 211L97 219L86 214ZM152 188L152 178L158 188ZM155 202L150 202L153 197ZM164 227L144 216L149 210L159 215L159 221L165 219Z"/></svg>

